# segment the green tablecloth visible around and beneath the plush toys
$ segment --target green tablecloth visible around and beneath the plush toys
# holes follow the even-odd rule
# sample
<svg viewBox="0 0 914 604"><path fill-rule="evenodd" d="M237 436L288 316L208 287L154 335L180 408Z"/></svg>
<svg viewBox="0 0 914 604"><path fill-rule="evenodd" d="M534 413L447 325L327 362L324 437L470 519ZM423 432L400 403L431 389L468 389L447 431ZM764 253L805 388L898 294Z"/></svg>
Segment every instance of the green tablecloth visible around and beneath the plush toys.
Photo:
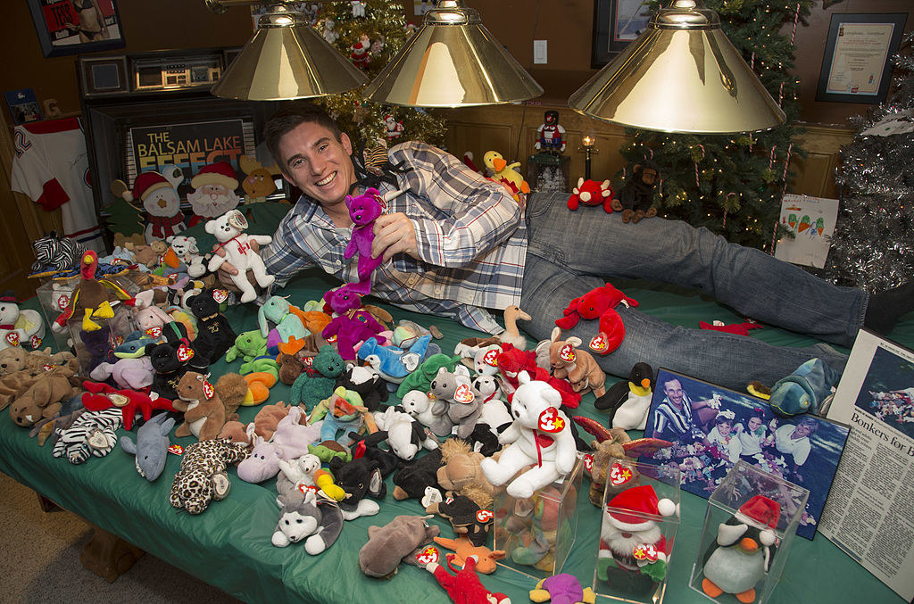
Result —
<svg viewBox="0 0 914 604"><path fill-rule="evenodd" d="M641 302L641 309L671 323L696 327L699 320L720 319L738 322L707 297L668 287L651 287L643 282L615 283ZM310 273L292 281L284 293L290 301L302 304L317 299L335 284ZM445 337L442 350L451 352L454 344L473 334L456 323L389 309L395 320L410 318L421 324L434 323ZM236 331L256 328L253 307L233 308L229 320ZM914 320L909 319L892 334L903 344L914 344ZM810 338L766 327L751 337L772 344L805 345ZM224 361L213 367L213 376L238 370ZM751 379L747 367L746 379ZM611 378L613 381L614 378ZM288 397L289 387L278 384L271 391L270 403ZM579 411L600 418L592 407L593 396L585 397ZM241 419L253 419L257 408L242 408ZM173 438L173 441L175 439ZM188 445L193 439L176 440ZM165 472L154 483L146 482L133 467L133 457L120 447L102 459L92 458L83 465L51 456L50 447L37 447L27 429L16 427L8 414L0 416L0 471L26 484L38 493L91 523L132 542L143 550L185 569L233 596L251 602L446 602L447 595L429 573L417 567L401 566L390 580L367 578L358 569L357 554L367 541L369 525L384 525L398 514L423 514L415 500L398 502L391 495L381 502L377 516L345 523L342 535L320 556L309 556L302 545L285 548L271 545L278 510L273 482L242 482L231 470L232 489L228 499L212 503L201 515L175 511L168 503L168 492L180 460L169 456ZM579 493L578 538L566 572L590 584L600 532L599 510L587 500L587 479ZM389 479L388 479L389 491ZM692 564L707 510L707 501L682 493L682 522L675 539L671 572L666 591L667 602L707 601L688 587ZM451 530L440 519L442 535ZM499 568L484 576L484 585L508 594L515 604L528 601L527 591L535 581L511 570ZM894 593L872 577L849 556L821 535L813 541L793 540L792 551L773 602L824 601L898 601Z"/></svg>

